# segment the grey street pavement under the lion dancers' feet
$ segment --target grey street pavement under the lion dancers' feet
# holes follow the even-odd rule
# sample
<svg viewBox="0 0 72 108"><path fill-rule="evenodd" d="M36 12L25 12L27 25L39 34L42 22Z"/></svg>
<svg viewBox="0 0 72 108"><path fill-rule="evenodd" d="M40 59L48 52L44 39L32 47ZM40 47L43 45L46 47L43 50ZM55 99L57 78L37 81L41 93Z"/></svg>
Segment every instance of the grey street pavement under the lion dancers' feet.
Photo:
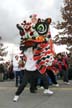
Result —
<svg viewBox="0 0 72 108"><path fill-rule="evenodd" d="M29 85L20 95L18 102L13 102L16 91L15 81L0 82L0 108L72 108L72 81L66 85L62 80L60 86L50 86L53 95L43 94L43 89L38 87L36 94L29 91Z"/></svg>

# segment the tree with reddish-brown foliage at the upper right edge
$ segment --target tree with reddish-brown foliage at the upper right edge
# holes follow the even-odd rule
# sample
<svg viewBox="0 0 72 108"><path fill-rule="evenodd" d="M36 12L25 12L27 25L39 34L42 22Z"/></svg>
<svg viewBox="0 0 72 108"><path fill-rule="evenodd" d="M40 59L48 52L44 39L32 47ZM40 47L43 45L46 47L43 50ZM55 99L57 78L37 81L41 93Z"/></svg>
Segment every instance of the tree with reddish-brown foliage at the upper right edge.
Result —
<svg viewBox="0 0 72 108"><path fill-rule="evenodd" d="M72 0L64 0L61 7L62 21L55 23L55 28L59 34L55 36L56 44L66 44L67 49L72 52Z"/></svg>

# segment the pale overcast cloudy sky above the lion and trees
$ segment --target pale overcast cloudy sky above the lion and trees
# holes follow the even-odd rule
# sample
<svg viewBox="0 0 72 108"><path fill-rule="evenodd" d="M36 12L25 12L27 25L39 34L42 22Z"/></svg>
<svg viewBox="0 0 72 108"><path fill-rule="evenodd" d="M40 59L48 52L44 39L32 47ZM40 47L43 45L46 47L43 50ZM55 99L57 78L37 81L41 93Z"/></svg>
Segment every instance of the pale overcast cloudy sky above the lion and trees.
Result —
<svg viewBox="0 0 72 108"><path fill-rule="evenodd" d="M17 23L32 14L41 18L51 17L53 22L61 20L62 3L63 0L0 0L0 36L5 45L9 46L10 53L20 42ZM53 27L51 34L52 37L57 34Z"/></svg>

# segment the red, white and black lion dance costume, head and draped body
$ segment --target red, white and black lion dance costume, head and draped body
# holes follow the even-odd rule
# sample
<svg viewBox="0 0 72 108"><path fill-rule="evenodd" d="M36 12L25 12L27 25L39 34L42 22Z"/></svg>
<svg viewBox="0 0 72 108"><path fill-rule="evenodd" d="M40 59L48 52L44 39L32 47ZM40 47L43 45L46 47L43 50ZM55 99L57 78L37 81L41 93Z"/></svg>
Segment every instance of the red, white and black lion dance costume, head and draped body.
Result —
<svg viewBox="0 0 72 108"><path fill-rule="evenodd" d="M24 20L17 24L21 36L20 50L24 53L29 47L33 47L33 58L36 67L41 74L46 69L57 71L54 66L54 48L49 26L51 18L41 19L37 15L30 16L30 22Z"/></svg>

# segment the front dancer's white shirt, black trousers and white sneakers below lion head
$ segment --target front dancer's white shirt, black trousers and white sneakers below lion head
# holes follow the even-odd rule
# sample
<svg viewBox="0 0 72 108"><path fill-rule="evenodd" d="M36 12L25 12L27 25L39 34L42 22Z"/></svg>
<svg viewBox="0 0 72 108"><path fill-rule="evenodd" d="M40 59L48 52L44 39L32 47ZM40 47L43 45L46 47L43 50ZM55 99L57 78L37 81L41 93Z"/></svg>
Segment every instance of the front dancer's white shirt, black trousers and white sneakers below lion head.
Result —
<svg viewBox="0 0 72 108"><path fill-rule="evenodd" d="M30 91L32 93L35 93L35 83L34 81L36 80L36 78L41 78L43 80L43 84L44 84L44 93L46 94L53 94L53 92L51 90L48 89L48 79L46 74L40 74L37 69L36 69L36 63L33 60L33 57L31 55L32 53L32 48L28 48L27 51L25 52L27 61L25 64L25 72L24 72L24 77L22 80L21 85L18 87L14 99L13 101L16 102L19 99L20 94L22 93L22 91L24 90L24 88L26 87L27 83L30 82Z"/></svg>

